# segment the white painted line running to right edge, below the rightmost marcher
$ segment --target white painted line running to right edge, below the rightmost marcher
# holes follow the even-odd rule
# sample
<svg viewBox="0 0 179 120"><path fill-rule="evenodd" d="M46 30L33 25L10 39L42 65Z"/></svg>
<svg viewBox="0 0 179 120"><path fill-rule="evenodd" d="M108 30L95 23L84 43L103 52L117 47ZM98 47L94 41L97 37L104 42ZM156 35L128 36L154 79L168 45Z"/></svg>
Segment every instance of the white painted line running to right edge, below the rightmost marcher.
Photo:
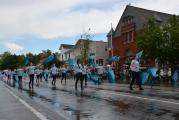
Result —
<svg viewBox="0 0 179 120"><path fill-rule="evenodd" d="M171 101L167 101L167 100L158 100L158 99L152 99L152 98L146 98L146 97L124 95L124 94L120 94L120 93L105 92L105 91L101 91L101 92L108 93L108 94L111 94L111 95L118 95L118 96L123 96L123 97L130 97L130 98L136 98L136 99L142 99L142 100L148 100L148 101L154 101L154 102L162 102L162 103L179 105L179 103L177 103L177 102L171 102Z"/></svg>

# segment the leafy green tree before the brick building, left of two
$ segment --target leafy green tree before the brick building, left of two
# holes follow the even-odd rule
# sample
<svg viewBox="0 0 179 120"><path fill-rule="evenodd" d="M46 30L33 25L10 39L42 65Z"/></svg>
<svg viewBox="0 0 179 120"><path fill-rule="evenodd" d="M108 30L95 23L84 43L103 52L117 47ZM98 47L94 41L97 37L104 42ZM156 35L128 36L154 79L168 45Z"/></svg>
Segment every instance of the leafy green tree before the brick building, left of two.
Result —
<svg viewBox="0 0 179 120"><path fill-rule="evenodd" d="M161 53L162 31L152 17L144 26L143 31L137 34L137 47L143 50L144 58L155 59ZM161 56L160 56L161 57Z"/></svg>

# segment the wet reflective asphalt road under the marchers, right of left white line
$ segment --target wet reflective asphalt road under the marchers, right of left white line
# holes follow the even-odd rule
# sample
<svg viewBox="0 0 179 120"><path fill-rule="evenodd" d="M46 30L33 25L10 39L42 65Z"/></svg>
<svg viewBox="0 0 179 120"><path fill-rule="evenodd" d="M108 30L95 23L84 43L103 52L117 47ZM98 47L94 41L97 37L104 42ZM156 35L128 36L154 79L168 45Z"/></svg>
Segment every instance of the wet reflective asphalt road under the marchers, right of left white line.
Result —
<svg viewBox="0 0 179 120"><path fill-rule="evenodd" d="M39 111L48 119L61 116L67 120L179 120L178 88L145 87L139 91L136 87L129 91L126 84L98 86L89 82L84 91L75 91L73 79L68 79L67 85L57 81L56 89L49 81L29 91L28 80L23 82L22 90L8 88L27 103L30 100L32 107L40 105L37 109L41 108Z"/></svg>

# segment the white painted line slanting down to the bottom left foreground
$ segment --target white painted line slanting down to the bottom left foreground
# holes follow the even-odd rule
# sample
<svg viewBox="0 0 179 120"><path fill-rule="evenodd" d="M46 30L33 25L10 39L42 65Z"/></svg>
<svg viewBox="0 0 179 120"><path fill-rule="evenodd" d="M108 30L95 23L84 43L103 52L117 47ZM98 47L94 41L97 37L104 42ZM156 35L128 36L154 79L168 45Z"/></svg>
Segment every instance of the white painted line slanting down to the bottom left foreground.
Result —
<svg viewBox="0 0 179 120"><path fill-rule="evenodd" d="M40 120L48 120L44 115L42 115L40 112L38 112L37 110L35 110L33 107L31 107L27 102L25 102L24 100L22 100L20 97L18 97L17 95L15 95L12 91L10 91L9 89L7 89L8 92L14 96L16 99L18 99L27 109L29 109L33 114L35 114Z"/></svg>

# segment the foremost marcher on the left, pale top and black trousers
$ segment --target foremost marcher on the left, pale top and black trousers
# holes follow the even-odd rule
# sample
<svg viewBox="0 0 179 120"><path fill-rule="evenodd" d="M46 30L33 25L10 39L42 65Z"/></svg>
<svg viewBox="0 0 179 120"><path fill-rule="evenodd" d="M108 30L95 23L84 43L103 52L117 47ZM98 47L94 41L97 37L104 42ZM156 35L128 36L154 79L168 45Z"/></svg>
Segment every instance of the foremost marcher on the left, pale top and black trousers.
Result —
<svg viewBox="0 0 179 120"><path fill-rule="evenodd" d="M30 66L28 67L28 73L29 73L29 89L34 89L34 74L35 74L35 66L33 66L33 63L30 63Z"/></svg>

